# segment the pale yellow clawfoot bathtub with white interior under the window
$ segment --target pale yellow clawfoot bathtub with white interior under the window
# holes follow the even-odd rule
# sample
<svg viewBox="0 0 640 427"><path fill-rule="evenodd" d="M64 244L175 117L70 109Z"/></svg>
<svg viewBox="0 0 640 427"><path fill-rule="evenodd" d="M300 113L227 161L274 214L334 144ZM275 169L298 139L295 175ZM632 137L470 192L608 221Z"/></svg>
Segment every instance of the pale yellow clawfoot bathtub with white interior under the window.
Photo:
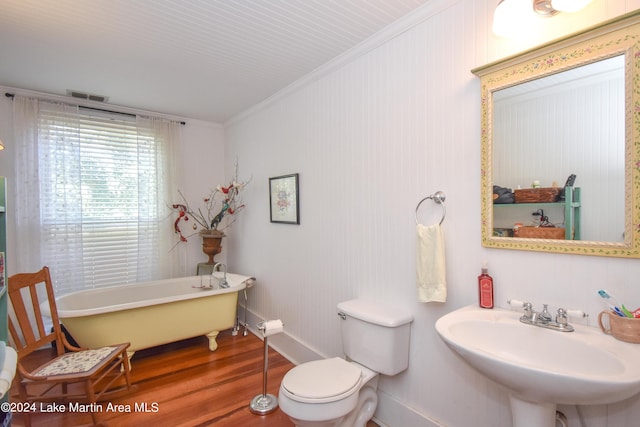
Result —
<svg viewBox="0 0 640 427"><path fill-rule="evenodd" d="M84 290L56 303L60 321L84 347L130 342L131 358L137 350L206 335L214 351L218 333L234 326L238 292L253 280L227 274L229 288L222 289L217 276L182 277Z"/></svg>

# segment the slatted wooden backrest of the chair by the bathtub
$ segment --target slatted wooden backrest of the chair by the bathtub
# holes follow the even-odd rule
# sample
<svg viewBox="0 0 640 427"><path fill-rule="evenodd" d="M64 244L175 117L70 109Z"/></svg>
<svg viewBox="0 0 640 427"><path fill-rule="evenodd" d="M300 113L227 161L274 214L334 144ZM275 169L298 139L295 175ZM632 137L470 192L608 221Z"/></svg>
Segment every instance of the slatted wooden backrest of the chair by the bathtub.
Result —
<svg viewBox="0 0 640 427"><path fill-rule="evenodd" d="M64 353L62 329L49 268L43 267L35 273L14 274L7 281L7 291L15 315L15 319L13 315L9 316L9 332L18 352L18 359L54 341L58 354ZM45 300L49 304L53 332L47 332L45 329L40 308L40 304Z"/></svg>

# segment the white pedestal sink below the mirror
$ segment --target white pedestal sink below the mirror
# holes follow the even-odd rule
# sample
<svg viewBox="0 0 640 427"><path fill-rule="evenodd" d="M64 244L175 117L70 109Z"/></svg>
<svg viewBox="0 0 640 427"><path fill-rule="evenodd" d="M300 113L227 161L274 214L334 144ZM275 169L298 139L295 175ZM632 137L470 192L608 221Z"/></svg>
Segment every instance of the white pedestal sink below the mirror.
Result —
<svg viewBox="0 0 640 427"><path fill-rule="evenodd" d="M468 306L436 322L449 348L509 391L514 427L552 427L557 404L608 404L640 391L640 344L583 325L526 325L521 315Z"/></svg>

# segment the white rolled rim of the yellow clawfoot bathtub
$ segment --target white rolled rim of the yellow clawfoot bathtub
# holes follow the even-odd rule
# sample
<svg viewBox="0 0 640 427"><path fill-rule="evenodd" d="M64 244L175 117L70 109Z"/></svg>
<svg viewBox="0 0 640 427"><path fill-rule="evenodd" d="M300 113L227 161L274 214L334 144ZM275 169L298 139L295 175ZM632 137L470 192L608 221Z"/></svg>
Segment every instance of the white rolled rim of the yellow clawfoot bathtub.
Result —
<svg viewBox="0 0 640 427"><path fill-rule="evenodd" d="M194 283L196 283L196 281L197 283L199 283L200 276L186 276L186 277L176 277L171 279L150 280L146 282L131 283L126 285L102 286L99 288L85 289L81 291L64 294L59 297L56 297L58 318L62 320L70 317L86 317L86 316L98 315L103 313L110 313L113 311L133 310L141 307L149 307L149 306L160 305L160 304L170 304L172 302L177 302L177 301L185 301L185 300L196 299L196 298L207 298L207 297L213 297L215 295L221 295L221 294L226 294L231 292L240 292L243 289L251 287L253 285L253 281L255 281L255 277L243 276L235 273L227 273L227 281L230 284L228 288L215 288L215 287L205 288L205 289L190 288L190 289L193 289L192 292L183 293L180 295L171 295L171 296L161 297L161 298L151 298L151 299L146 299L141 301L131 301L131 302L125 302L120 304L101 306L101 307L70 308L70 309L65 309L64 307L62 308L60 307L62 304L64 304L65 299L71 298L78 294L102 293L105 290L117 291L118 289L128 288L131 286L140 286L140 287L159 286L162 284L169 284L171 282L180 283L185 280L187 281L193 280ZM41 304L40 309L43 311L45 315L51 317L51 313L49 311L49 304L46 301Z"/></svg>

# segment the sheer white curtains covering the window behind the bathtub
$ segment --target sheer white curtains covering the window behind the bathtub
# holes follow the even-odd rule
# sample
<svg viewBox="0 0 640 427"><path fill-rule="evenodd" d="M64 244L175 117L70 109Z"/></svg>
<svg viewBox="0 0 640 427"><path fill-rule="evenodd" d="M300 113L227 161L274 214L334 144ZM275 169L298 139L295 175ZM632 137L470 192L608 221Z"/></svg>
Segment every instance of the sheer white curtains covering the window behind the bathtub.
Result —
<svg viewBox="0 0 640 427"><path fill-rule="evenodd" d="M59 294L177 275L180 124L18 95L13 106L17 271L48 265Z"/></svg>

